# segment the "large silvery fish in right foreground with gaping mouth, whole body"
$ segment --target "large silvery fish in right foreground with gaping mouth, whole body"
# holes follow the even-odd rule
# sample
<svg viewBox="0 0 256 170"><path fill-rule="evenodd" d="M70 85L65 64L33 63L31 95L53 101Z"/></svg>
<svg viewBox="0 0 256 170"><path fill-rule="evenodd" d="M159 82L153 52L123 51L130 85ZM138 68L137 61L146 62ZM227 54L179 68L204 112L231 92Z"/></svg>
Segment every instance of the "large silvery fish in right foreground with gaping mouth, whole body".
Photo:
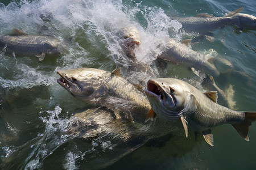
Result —
<svg viewBox="0 0 256 170"><path fill-rule="evenodd" d="M146 121L159 115L173 125L183 126L186 137L188 129L201 132L210 146L214 146L210 129L231 124L249 141L249 127L256 120L256 112L233 111L217 104L216 91L202 93L180 79L156 78L148 80L146 95L152 107Z"/></svg>

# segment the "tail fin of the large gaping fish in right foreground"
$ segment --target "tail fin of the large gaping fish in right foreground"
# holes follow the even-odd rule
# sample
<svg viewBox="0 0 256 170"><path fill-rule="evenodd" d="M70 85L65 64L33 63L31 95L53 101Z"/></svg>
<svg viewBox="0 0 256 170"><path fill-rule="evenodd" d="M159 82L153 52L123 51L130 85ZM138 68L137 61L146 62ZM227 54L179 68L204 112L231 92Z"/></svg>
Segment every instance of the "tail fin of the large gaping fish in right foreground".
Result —
<svg viewBox="0 0 256 170"><path fill-rule="evenodd" d="M246 141L249 141L248 132L251 125L251 122L256 121L256 112L244 112L245 120L242 124L234 124L234 128L238 133L245 138Z"/></svg>

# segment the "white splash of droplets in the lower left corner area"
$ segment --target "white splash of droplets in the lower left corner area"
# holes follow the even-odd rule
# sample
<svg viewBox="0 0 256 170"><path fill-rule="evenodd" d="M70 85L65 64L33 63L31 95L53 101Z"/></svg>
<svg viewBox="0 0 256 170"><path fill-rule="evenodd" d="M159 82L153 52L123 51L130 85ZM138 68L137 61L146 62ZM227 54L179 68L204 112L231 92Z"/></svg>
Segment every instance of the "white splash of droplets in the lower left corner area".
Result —
<svg viewBox="0 0 256 170"><path fill-rule="evenodd" d="M59 118L61 110L59 106L56 106L54 111L46 111L47 117L40 117L46 124L46 130L42 134L38 134L35 143L31 145L32 150L23 164L25 169L42 167L44 159L53 154L53 151L67 142L69 138L73 138L62 134L68 130L69 120Z"/></svg>

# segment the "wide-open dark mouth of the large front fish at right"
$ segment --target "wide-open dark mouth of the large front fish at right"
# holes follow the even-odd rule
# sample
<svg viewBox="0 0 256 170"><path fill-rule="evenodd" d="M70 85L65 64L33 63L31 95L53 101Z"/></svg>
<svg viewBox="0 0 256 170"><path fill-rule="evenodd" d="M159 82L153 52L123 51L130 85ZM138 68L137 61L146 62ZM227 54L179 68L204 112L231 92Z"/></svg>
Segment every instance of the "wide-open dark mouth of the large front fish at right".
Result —
<svg viewBox="0 0 256 170"><path fill-rule="evenodd" d="M147 96L158 98L160 101L163 101L164 98L161 88L152 80L148 80L146 94Z"/></svg>

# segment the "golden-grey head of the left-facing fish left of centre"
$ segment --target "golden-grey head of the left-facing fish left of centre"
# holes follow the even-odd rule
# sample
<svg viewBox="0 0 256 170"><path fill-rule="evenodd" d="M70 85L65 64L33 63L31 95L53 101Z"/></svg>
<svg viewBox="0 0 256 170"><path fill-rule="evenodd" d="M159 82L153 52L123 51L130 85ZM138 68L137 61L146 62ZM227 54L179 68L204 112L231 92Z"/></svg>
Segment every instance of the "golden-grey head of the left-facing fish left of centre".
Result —
<svg viewBox="0 0 256 170"><path fill-rule="evenodd" d="M57 71L60 78L57 82L73 96L94 101L108 94L109 86L104 81L110 73L108 71L92 68L77 68Z"/></svg>

